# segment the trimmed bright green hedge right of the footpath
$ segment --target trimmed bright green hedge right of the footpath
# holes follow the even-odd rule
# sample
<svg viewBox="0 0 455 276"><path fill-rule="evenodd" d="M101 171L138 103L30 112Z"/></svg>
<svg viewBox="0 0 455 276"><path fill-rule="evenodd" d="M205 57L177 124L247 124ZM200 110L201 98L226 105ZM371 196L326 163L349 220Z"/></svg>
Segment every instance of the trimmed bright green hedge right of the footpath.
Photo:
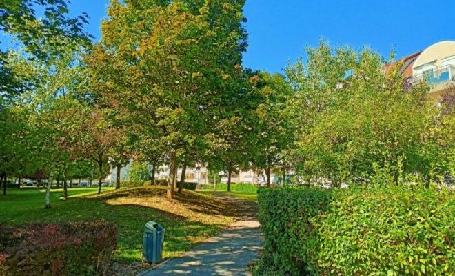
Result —
<svg viewBox="0 0 455 276"><path fill-rule="evenodd" d="M389 186L261 188L255 275L454 275L455 197Z"/></svg>

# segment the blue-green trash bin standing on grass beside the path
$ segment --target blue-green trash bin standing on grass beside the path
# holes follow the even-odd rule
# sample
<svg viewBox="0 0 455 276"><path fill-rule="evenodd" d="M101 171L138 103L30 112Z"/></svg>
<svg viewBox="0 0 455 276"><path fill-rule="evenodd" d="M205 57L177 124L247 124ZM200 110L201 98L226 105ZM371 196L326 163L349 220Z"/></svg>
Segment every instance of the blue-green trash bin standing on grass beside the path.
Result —
<svg viewBox="0 0 455 276"><path fill-rule="evenodd" d="M163 259L165 229L155 221L145 224L142 239L142 255L145 262L158 264Z"/></svg>

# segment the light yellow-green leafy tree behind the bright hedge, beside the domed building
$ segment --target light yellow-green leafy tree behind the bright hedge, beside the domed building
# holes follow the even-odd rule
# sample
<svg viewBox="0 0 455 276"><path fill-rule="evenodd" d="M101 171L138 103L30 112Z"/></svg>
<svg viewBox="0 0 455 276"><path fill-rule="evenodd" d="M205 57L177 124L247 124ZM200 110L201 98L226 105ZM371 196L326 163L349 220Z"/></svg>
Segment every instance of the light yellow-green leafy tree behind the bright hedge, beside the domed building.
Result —
<svg viewBox="0 0 455 276"><path fill-rule="evenodd" d="M444 151L436 150L442 145L436 135L445 128L438 125L440 109L427 99L429 88L415 83L403 92L398 66L385 74L383 58L369 48L332 48L322 41L307 52L306 65L287 69L299 175L341 186L369 179L373 164L398 173L400 159L405 173L429 175Z"/></svg>

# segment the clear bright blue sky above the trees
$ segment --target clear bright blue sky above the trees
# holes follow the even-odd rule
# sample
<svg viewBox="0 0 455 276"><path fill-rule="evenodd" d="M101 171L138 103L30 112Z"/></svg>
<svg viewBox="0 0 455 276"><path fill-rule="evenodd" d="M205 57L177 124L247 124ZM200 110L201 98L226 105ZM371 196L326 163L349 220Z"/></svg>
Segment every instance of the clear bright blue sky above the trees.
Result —
<svg viewBox="0 0 455 276"><path fill-rule="evenodd" d="M87 12L94 37L108 0L72 0L72 15ZM332 45L370 46L388 57L424 50L432 43L455 40L454 0L247 0L249 38L244 66L282 72L287 61L305 57L305 46L324 37Z"/></svg>

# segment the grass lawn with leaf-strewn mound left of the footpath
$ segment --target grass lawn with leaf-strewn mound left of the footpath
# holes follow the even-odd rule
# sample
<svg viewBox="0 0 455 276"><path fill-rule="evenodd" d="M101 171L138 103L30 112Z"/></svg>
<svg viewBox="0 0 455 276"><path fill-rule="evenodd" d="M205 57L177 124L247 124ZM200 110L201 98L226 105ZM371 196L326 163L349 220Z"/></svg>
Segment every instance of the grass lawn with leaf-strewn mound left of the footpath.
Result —
<svg viewBox="0 0 455 276"><path fill-rule="evenodd" d="M166 229L163 257L175 257L194 248L232 218L232 206L208 194L184 190L174 201L165 198L165 188L148 186L112 190L68 188L51 190L50 209L44 209L43 190L10 188L0 195L0 224L24 224L35 221L106 220L119 225L119 249L114 259L120 263L141 261L143 226L156 221Z"/></svg>

